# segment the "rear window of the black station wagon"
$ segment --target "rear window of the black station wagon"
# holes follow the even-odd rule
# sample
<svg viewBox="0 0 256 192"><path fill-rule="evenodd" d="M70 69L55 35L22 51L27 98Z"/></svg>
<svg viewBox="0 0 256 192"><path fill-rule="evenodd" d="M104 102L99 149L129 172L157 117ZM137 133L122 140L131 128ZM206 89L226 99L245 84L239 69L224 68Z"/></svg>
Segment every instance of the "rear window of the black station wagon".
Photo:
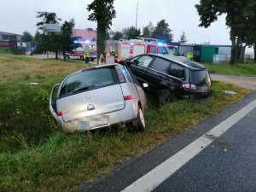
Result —
<svg viewBox="0 0 256 192"><path fill-rule="evenodd" d="M191 70L191 84L198 86L210 85L210 77L207 70Z"/></svg>

